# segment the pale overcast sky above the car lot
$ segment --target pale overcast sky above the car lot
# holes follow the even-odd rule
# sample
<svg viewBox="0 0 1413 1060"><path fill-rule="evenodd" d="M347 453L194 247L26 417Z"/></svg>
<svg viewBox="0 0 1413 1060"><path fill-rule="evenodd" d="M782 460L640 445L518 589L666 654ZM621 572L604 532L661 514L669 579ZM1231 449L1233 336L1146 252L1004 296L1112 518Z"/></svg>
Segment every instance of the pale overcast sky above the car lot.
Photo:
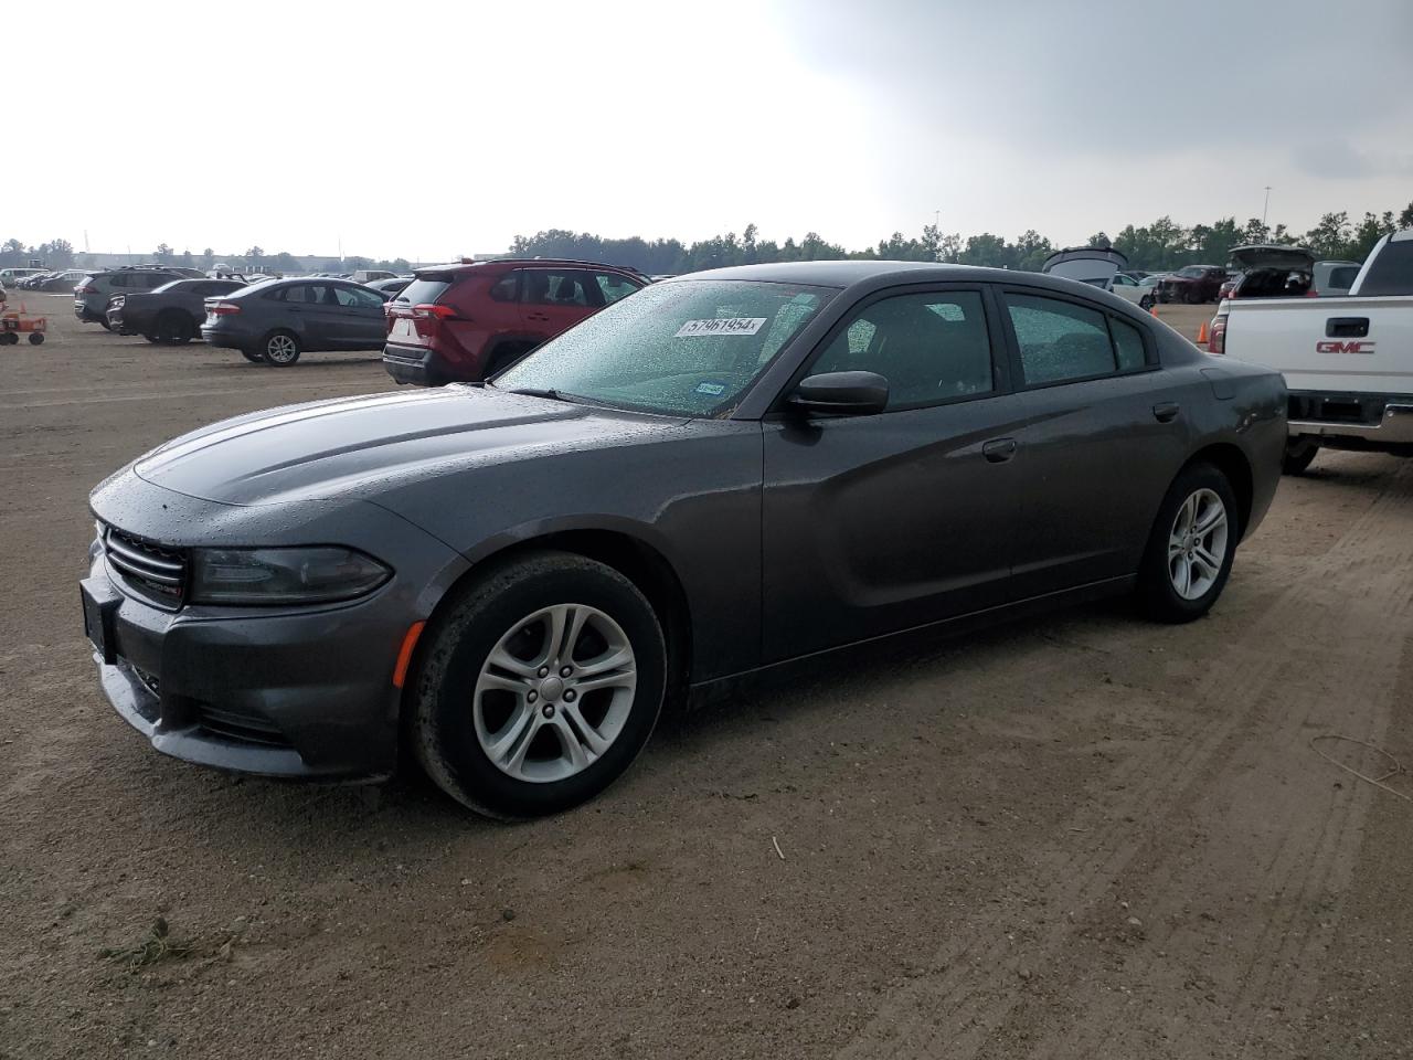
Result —
<svg viewBox="0 0 1413 1060"><path fill-rule="evenodd" d="M0 38L0 239L79 250L1064 245L1267 184L1296 230L1413 201L1413 0L17 0Z"/></svg>

